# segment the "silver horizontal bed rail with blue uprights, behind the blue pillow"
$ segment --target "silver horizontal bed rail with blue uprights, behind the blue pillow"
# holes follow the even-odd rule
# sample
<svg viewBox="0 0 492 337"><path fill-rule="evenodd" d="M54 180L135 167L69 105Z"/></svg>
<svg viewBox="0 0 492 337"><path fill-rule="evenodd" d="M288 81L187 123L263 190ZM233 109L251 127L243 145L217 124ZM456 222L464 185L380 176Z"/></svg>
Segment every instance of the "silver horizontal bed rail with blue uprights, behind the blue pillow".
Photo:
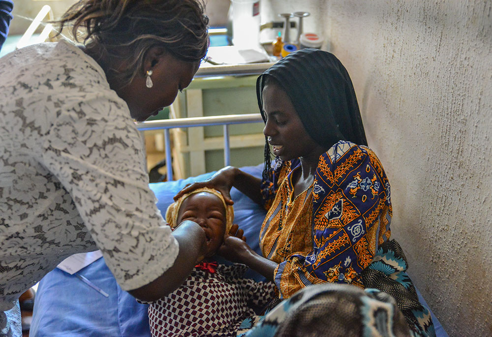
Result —
<svg viewBox="0 0 492 337"><path fill-rule="evenodd" d="M173 180L173 165L171 154L171 137L169 129L177 127L195 127L195 126L210 126L223 125L224 130L224 165L230 165L230 144L229 144L229 128L230 124L244 123L259 123L263 122L261 114L244 114L244 115L224 115L224 116L208 116L208 117L190 117L176 118L161 121L148 121L136 123L137 129L140 131L146 130L164 130L164 145L166 153L166 168L167 180Z"/></svg>

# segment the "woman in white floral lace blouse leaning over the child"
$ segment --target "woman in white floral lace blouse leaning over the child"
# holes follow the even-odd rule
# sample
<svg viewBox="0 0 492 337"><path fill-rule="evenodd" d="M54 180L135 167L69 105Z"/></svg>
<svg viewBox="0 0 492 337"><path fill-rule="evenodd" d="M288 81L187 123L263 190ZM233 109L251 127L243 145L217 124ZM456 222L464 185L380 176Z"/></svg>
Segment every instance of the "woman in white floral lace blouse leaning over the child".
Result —
<svg viewBox="0 0 492 337"><path fill-rule="evenodd" d="M209 43L202 3L81 0L61 23L84 44L0 59L0 322L73 253L101 249L124 290L154 301L205 249L196 223L165 225L133 122L191 82Z"/></svg>

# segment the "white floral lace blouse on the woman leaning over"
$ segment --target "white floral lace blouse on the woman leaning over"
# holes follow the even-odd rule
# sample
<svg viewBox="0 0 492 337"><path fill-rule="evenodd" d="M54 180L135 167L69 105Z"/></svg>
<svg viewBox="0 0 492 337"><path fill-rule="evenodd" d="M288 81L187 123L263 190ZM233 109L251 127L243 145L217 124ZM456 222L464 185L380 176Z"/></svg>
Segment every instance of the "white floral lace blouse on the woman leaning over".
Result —
<svg viewBox="0 0 492 337"><path fill-rule="evenodd" d="M142 138L81 49L42 43L0 59L0 144L0 311L73 253L101 249L124 290L172 266L179 247Z"/></svg>

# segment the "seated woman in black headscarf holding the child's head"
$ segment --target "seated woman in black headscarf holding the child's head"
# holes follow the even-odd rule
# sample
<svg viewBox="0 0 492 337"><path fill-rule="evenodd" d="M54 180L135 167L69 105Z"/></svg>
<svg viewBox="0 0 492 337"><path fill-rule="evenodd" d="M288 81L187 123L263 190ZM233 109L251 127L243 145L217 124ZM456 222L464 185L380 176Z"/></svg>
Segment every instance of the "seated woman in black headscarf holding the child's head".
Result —
<svg viewBox="0 0 492 337"><path fill-rule="evenodd" d="M380 289L396 299L411 334L433 336L390 240L390 184L368 147L345 67L331 53L302 49L258 78L257 97L267 139L263 179L226 167L180 192L215 187L232 204L234 186L268 209L263 256L234 236L221 254L275 281L280 299L326 282Z"/></svg>

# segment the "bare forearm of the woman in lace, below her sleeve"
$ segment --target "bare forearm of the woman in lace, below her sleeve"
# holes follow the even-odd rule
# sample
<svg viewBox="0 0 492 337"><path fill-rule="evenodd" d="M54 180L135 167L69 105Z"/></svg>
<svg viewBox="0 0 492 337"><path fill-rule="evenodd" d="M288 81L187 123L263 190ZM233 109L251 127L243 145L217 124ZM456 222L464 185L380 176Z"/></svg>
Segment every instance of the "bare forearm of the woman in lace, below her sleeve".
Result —
<svg viewBox="0 0 492 337"><path fill-rule="evenodd" d="M176 290L191 273L206 249L205 232L193 221L184 221L173 231L180 250L174 264L154 281L128 291L139 300L153 302Z"/></svg>

